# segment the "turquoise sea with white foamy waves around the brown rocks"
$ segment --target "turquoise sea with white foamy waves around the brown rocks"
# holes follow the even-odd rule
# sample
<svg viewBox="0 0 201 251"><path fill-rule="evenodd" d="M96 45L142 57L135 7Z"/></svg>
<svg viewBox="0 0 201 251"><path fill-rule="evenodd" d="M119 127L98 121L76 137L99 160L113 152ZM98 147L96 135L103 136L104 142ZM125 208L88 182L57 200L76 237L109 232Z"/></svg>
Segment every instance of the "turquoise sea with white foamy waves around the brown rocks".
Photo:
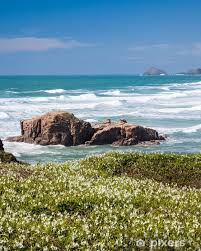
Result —
<svg viewBox="0 0 201 251"><path fill-rule="evenodd" d="M0 77L0 137L20 134L19 121L52 110L89 122L125 118L168 135L157 146L39 146L4 142L19 159L64 161L108 150L190 153L201 149L201 76Z"/></svg>

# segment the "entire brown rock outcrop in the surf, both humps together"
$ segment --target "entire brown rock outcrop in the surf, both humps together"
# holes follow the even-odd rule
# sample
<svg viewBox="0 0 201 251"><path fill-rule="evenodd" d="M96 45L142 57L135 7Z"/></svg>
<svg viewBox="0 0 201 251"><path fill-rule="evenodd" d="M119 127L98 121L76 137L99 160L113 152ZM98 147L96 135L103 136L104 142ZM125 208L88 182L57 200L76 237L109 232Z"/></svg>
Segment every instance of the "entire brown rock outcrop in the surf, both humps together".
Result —
<svg viewBox="0 0 201 251"><path fill-rule="evenodd" d="M67 112L49 112L42 116L21 121L21 136L10 137L8 141L35 143L41 145L74 146L87 145L136 145L145 141L164 138L158 132L127 121L91 125Z"/></svg>

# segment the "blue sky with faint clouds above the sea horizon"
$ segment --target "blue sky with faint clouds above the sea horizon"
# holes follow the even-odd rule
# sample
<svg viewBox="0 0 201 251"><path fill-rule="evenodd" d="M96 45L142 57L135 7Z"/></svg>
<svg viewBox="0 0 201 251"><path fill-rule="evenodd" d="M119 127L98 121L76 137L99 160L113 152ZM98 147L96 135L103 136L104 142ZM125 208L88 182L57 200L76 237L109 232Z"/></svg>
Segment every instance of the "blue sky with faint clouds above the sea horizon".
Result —
<svg viewBox="0 0 201 251"><path fill-rule="evenodd" d="M199 0L0 0L0 74L201 67Z"/></svg>

